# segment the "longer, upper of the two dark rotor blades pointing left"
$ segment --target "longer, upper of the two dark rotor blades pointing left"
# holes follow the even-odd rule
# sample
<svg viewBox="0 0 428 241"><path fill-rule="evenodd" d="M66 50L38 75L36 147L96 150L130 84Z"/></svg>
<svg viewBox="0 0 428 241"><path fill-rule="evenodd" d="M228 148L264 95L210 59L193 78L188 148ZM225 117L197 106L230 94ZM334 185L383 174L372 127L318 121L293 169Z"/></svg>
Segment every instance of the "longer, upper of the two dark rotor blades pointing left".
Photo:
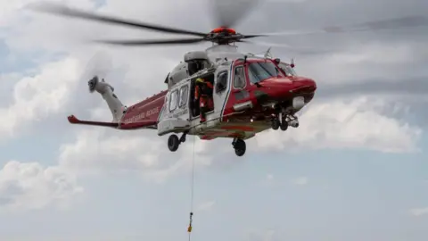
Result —
<svg viewBox="0 0 428 241"><path fill-rule="evenodd" d="M39 12L53 13L56 15L63 15L67 17L77 18L77 19L85 19L91 21L100 21L104 23L113 23L118 25L124 25L128 27L135 27L139 29L152 29L155 31L165 32L165 33L177 33L177 34L185 34L185 35L193 35L204 37L207 34L202 32L196 32L185 29L176 29L164 27L161 25L155 25L152 23L144 23L139 21L129 21L124 19L119 19L116 17L103 16L91 12L85 12L77 9L71 9L66 6L62 6L59 4L37 4L32 9L37 10Z"/></svg>

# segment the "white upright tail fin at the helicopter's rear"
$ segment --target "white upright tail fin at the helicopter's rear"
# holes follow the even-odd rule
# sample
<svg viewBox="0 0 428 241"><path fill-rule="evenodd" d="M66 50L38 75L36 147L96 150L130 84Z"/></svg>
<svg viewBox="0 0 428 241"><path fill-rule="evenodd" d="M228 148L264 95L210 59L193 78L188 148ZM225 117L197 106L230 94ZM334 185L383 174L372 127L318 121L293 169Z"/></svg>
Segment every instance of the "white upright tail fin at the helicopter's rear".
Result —
<svg viewBox="0 0 428 241"><path fill-rule="evenodd" d="M101 81L95 76L87 82L89 86L89 92L98 92L103 96L105 102L109 105L111 115L113 116L113 122L119 122L123 114L127 111L127 106L123 105L118 96L114 95L114 88L102 79Z"/></svg>

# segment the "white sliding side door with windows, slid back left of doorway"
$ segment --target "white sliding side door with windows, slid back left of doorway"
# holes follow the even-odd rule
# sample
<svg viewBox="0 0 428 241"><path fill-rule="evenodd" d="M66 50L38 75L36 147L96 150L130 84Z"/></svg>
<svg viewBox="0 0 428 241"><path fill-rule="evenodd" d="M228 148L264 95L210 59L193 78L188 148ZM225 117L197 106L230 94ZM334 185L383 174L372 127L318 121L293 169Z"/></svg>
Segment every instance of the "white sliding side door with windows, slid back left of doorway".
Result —
<svg viewBox="0 0 428 241"><path fill-rule="evenodd" d="M164 114L158 123L158 135L179 133L190 128L190 81L172 87L166 96Z"/></svg>

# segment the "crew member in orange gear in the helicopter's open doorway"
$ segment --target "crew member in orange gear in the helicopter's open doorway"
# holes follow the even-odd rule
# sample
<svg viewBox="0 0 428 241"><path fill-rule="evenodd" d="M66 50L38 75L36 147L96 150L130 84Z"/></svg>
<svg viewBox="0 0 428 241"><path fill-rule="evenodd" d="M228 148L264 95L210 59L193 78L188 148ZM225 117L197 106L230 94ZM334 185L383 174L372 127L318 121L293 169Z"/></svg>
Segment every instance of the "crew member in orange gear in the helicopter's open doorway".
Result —
<svg viewBox="0 0 428 241"><path fill-rule="evenodd" d="M207 81L202 78L196 79L196 87L194 88L194 103L198 103L199 99L199 109L201 116L201 123L205 122L205 114L212 109L212 89L213 86L210 81Z"/></svg>

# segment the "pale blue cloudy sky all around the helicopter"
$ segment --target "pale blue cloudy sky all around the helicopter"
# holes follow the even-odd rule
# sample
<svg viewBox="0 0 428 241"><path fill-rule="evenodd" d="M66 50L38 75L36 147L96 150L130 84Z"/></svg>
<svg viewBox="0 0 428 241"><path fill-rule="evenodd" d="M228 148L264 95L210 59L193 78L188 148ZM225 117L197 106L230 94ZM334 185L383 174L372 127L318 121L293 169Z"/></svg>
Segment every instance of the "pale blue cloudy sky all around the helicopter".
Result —
<svg viewBox="0 0 428 241"><path fill-rule="evenodd" d="M34 2L0 0L1 240L185 240L193 148L193 240L428 238L428 27L240 45L245 53L273 46L275 57L294 58L297 73L317 81L300 127L260 133L243 157L229 139L193 137L170 153L168 137L155 131L72 126L66 117L111 120L87 89L92 74L133 104L165 89L186 52L210 44L94 45L87 40L163 36L30 12ZM177 28L218 27L209 0L61 2ZM424 0L266 0L235 29L427 14Z"/></svg>

